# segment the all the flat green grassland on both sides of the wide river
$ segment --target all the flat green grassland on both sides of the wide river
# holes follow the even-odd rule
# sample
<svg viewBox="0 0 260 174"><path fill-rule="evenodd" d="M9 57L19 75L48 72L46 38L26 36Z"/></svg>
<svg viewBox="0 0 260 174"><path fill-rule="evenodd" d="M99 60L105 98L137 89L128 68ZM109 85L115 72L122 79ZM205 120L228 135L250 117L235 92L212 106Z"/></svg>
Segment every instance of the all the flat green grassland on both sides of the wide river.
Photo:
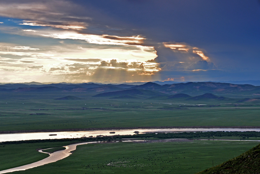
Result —
<svg viewBox="0 0 260 174"><path fill-rule="evenodd" d="M54 100L68 95L83 100ZM239 98L249 97L247 95L225 96L234 99L223 101L108 99L93 98L93 95L95 94L83 92L2 92L0 131L146 126L259 126L260 122L259 103L238 102ZM209 137L205 137L207 138ZM240 139L235 136L214 138ZM253 139L258 140L259 137L249 137L248 140ZM60 147L69 143L71 142L2 145L0 170L33 163L48 156L37 152L37 148ZM246 141L194 141L82 145L66 159L14 173L196 173L211 167L212 160L214 165L220 164L257 144L258 142ZM112 165L107 166L110 162Z"/></svg>

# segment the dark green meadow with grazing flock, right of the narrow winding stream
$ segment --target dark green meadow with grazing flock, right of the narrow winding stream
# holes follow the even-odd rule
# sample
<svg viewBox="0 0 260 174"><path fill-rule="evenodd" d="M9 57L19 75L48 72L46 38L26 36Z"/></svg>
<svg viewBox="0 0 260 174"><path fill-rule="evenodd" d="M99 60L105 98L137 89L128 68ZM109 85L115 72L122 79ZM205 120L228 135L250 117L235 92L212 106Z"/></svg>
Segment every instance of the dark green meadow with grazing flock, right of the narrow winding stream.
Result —
<svg viewBox="0 0 260 174"><path fill-rule="evenodd" d="M221 164L257 144L250 141L88 144L77 146L72 155L55 163L13 173L196 173L212 167L212 160L214 166ZM8 146L5 147L11 149L12 145ZM10 153L16 154L19 146L21 150L25 148L17 145ZM33 146L28 152L35 151Z"/></svg>

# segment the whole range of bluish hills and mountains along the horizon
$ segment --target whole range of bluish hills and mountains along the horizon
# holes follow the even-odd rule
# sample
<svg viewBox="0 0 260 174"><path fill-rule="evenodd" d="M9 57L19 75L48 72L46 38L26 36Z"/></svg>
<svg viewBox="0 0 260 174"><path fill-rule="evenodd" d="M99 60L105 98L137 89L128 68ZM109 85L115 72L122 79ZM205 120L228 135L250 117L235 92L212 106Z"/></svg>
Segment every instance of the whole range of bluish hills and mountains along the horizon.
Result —
<svg viewBox="0 0 260 174"><path fill-rule="evenodd" d="M250 98L240 100L249 101L251 98L255 98L256 100L254 101L258 101L257 97L260 96L260 86L220 82L186 82L164 85L153 82L147 82L142 85L97 83L52 83L41 85L37 82L30 82L29 84L14 83L0 85L0 92L84 92L96 98L150 98L161 100L229 100L229 98L222 97L222 95L251 95L252 97Z"/></svg>

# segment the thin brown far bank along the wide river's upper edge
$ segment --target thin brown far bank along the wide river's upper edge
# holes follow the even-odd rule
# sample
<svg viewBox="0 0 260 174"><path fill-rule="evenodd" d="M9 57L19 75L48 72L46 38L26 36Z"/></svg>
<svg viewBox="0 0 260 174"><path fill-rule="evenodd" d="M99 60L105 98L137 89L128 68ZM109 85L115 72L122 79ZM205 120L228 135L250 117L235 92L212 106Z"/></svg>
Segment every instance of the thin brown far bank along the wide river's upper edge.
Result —
<svg viewBox="0 0 260 174"><path fill-rule="evenodd" d="M67 131L90 131L90 130L124 130L124 129L181 129L181 128L238 128L238 129L259 129L260 126L149 126L149 127L106 127L106 128L75 128L75 129L39 129L39 130L9 130L0 131L0 134L14 133L37 133L37 132L67 132Z"/></svg>

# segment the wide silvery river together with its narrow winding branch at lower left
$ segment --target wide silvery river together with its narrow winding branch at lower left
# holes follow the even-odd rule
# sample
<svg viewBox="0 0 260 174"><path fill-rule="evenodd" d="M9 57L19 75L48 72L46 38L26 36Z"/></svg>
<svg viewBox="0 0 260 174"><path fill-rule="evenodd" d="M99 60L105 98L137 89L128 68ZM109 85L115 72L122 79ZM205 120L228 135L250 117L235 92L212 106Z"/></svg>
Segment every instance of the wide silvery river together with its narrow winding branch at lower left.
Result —
<svg viewBox="0 0 260 174"><path fill-rule="evenodd" d="M178 132L196 132L196 131L259 131L260 128L170 128L170 129L111 129L111 130L89 130L89 131L67 131L67 132L36 132L36 133L13 133L13 134L0 134L0 142L3 141L19 141L19 140L37 140L37 139L62 139L62 138L80 138L80 137L96 137L96 136L111 136L111 135L134 135L135 131L139 134L144 133L178 133ZM54 135L53 135L54 134ZM50 136L53 135L53 136ZM133 140L134 141L134 140ZM123 142L133 142L130 140ZM226 140L225 140L226 141ZM230 141L230 140L229 140ZM236 141L236 140L233 140ZM242 140L243 141L243 140ZM250 140L244 140L250 141ZM72 151L76 150L77 145L84 145L89 143L100 143L97 141L93 142L83 142L76 143L68 146L64 146L66 149L61 151L56 151L54 153L48 153L49 157L43 160L37 161L35 163L23 165L20 167L15 167L12 169L2 170L1 173L8 173L20 170L27 170L33 167L41 166L48 163L53 163L55 161L61 160L72 154ZM41 153L42 149L39 150Z"/></svg>

